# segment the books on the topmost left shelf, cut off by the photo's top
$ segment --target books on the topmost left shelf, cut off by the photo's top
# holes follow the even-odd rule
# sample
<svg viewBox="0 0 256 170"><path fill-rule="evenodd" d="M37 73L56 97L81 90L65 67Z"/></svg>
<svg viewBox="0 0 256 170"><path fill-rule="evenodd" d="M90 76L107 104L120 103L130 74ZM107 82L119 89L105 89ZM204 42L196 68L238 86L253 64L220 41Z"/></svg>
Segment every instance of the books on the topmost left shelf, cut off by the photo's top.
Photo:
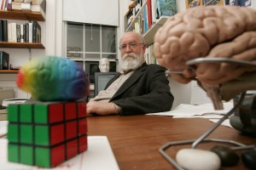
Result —
<svg viewBox="0 0 256 170"><path fill-rule="evenodd" d="M45 15L46 0L0 0L0 9L40 12Z"/></svg>

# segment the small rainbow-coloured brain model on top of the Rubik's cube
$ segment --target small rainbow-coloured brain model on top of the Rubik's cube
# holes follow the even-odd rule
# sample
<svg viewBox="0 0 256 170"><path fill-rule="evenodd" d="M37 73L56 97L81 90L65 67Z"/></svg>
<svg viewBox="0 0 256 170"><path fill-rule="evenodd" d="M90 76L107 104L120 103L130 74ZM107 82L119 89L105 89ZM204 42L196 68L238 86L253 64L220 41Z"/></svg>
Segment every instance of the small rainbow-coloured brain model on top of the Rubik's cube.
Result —
<svg viewBox="0 0 256 170"><path fill-rule="evenodd" d="M20 68L17 85L40 101L76 100L89 94L89 82L83 69L64 57L32 59Z"/></svg>

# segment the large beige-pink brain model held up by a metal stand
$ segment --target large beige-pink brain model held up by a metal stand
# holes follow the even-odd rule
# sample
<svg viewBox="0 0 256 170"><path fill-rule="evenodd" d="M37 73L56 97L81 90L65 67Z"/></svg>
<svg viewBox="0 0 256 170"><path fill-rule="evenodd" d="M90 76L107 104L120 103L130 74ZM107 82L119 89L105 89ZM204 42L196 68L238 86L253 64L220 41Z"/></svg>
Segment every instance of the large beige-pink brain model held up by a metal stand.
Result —
<svg viewBox="0 0 256 170"><path fill-rule="evenodd" d="M197 77L203 84L219 85L256 67L201 63L192 71L185 63L195 58L256 60L256 11L234 6L190 8L172 16L156 32L154 55L160 65L183 74L172 74L177 82Z"/></svg>

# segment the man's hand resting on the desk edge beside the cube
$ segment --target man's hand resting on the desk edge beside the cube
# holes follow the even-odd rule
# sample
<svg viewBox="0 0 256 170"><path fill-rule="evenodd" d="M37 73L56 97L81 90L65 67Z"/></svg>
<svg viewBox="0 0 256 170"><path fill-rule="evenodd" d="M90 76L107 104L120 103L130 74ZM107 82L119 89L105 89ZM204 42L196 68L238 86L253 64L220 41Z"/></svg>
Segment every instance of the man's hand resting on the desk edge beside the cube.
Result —
<svg viewBox="0 0 256 170"><path fill-rule="evenodd" d="M103 103L98 101L90 101L86 106L87 115L90 116L93 113L101 116L117 115L119 111L117 106L113 103Z"/></svg>

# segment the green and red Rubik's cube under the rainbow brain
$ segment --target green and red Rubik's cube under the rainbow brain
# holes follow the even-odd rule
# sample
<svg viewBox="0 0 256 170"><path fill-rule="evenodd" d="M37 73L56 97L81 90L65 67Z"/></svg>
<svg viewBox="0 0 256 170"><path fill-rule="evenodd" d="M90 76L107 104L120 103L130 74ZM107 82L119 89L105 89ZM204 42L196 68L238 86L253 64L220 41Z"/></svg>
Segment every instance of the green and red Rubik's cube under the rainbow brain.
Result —
<svg viewBox="0 0 256 170"><path fill-rule="evenodd" d="M8 106L8 160L55 167L87 150L86 103Z"/></svg>

